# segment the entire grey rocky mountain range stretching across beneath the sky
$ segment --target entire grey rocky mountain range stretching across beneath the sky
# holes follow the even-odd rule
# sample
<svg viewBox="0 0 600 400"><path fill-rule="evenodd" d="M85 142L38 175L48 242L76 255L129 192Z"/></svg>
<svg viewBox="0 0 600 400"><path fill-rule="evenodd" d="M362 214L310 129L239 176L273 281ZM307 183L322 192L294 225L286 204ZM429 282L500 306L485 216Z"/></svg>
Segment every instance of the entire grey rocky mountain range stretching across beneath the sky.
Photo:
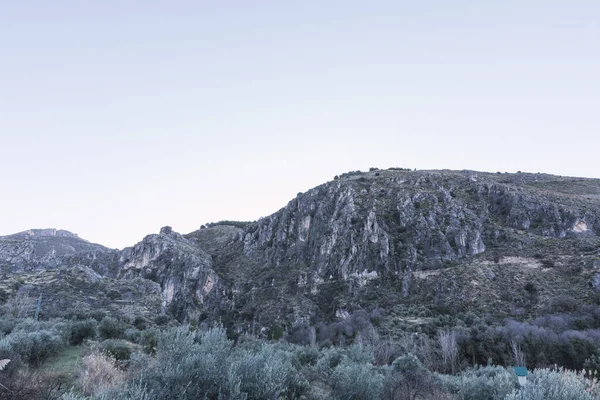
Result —
<svg viewBox="0 0 600 400"><path fill-rule="evenodd" d="M87 271L116 292L121 282L149 282L142 292L160 297L163 312L239 332L357 310L378 310L382 331L392 332L449 313L523 318L556 299L597 301L599 233L600 180L372 169L299 193L258 221L187 235L165 227L122 251L65 231L6 236L0 262L22 279L32 270ZM43 279L31 285L43 290ZM143 294L127 301L148 315L158 297L150 308Z"/></svg>

